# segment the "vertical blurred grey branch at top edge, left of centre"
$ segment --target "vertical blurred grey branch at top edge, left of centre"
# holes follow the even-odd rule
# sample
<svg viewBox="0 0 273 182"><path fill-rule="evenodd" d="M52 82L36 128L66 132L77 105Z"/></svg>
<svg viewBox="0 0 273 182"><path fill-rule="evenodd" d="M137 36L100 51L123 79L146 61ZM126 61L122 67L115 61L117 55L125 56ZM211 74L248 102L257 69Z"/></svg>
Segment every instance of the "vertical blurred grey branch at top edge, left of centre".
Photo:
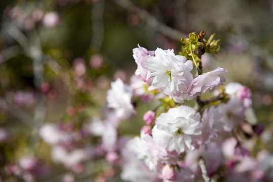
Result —
<svg viewBox="0 0 273 182"><path fill-rule="evenodd" d="M104 37L104 24L103 24L104 0L94 3L92 8L92 29L93 36L90 47L101 48Z"/></svg>

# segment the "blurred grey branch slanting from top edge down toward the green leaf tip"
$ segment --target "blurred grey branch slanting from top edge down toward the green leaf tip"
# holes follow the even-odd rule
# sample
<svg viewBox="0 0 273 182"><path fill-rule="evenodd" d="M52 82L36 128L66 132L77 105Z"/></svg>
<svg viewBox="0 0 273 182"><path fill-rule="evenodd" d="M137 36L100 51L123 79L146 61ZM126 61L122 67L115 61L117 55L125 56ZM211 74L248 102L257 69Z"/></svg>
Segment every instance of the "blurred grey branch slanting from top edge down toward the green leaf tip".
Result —
<svg viewBox="0 0 273 182"><path fill-rule="evenodd" d="M159 22L155 17L153 17L152 15L150 15L147 11L136 7L132 2L130 2L129 0L115 0L115 2L123 7L126 10L130 10L130 9L134 9L137 10L139 16L141 19L143 19L144 21L146 21L146 23L152 27L153 29L163 33L164 35L175 39L175 40L181 40L181 37L188 37L188 35L175 30L173 28L170 28L169 26Z"/></svg>

